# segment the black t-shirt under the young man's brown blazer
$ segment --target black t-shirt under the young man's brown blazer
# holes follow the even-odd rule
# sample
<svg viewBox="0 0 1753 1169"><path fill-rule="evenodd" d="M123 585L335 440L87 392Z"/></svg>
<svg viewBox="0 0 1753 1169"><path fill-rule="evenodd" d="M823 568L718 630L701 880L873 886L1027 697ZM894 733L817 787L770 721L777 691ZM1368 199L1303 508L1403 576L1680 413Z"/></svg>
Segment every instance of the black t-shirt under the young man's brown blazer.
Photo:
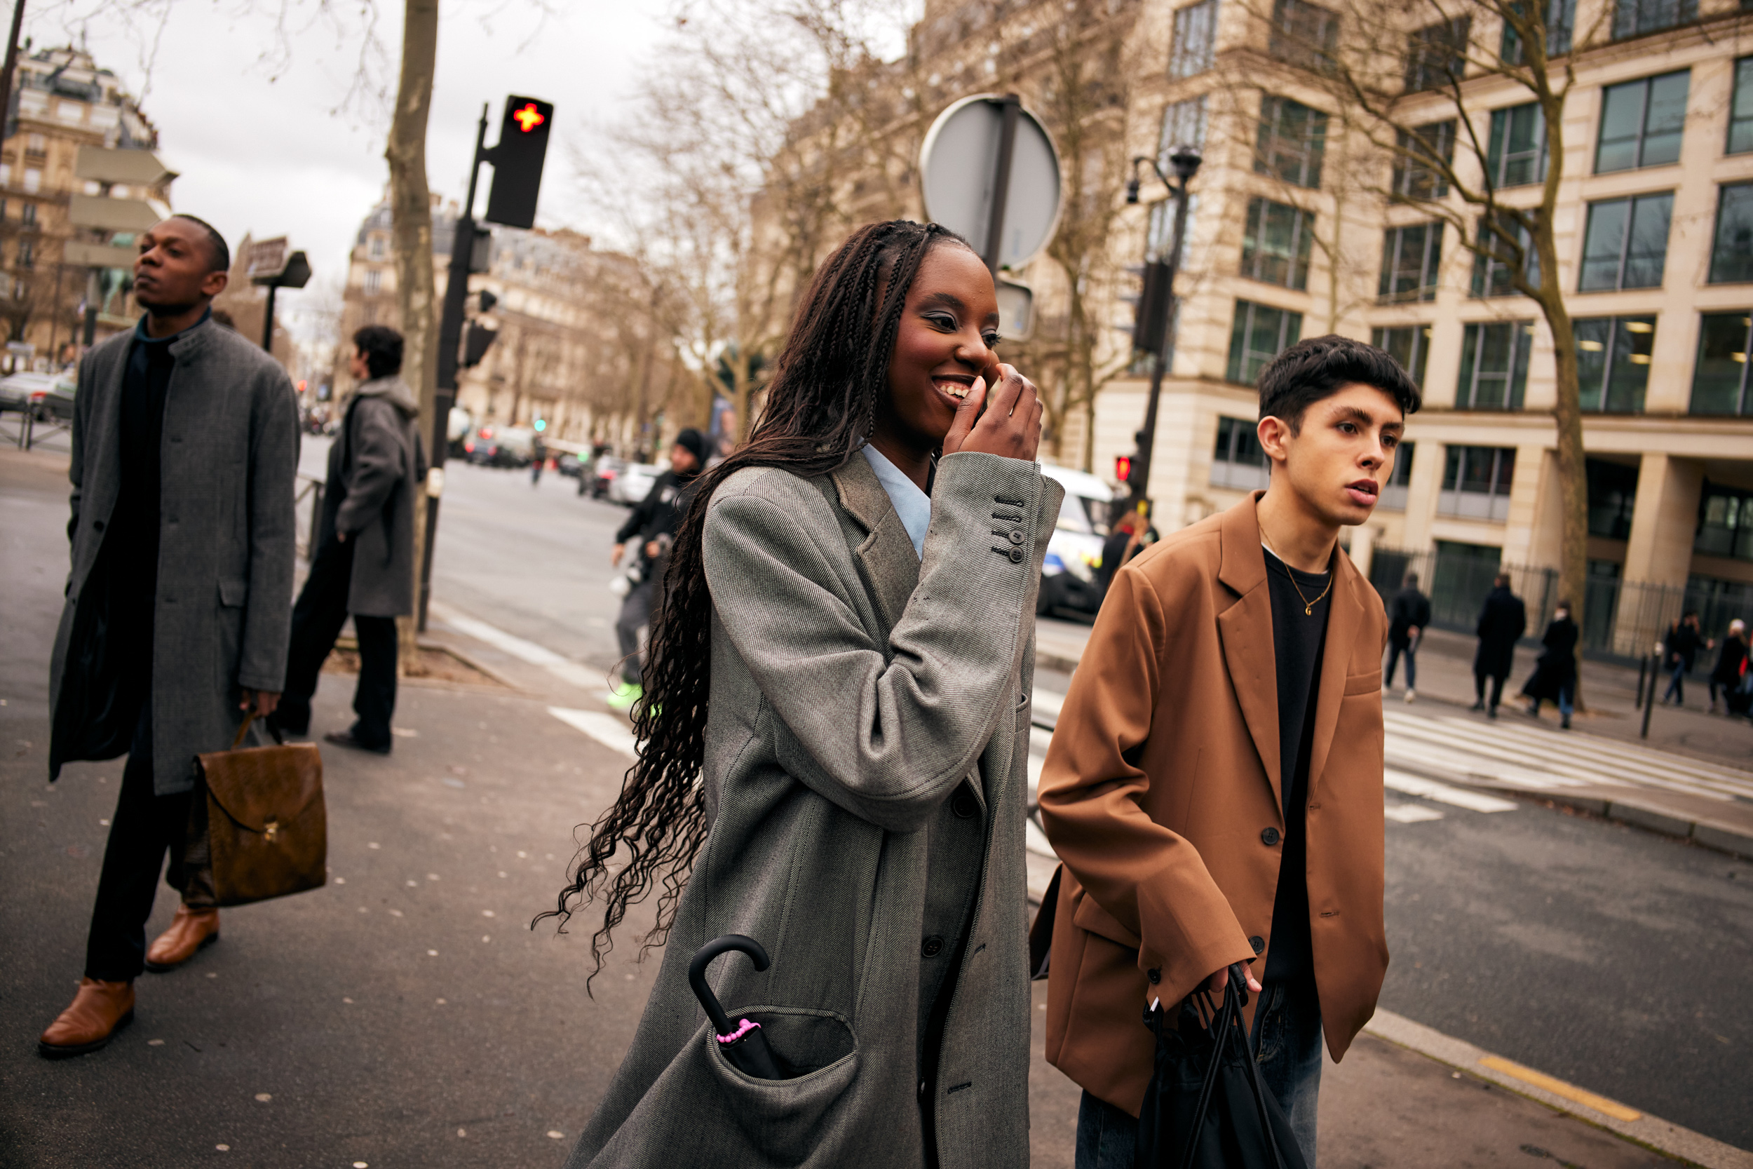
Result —
<svg viewBox="0 0 1753 1169"><path fill-rule="evenodd" d="M1278 670L1278 785L1283 792L1285 840L1273 899L1273 945L1260 981L1313 978L1309 946L1308 843L1302 810L1309 794L1309 754L1315 747L1315 698L1327 645L1332 573L1304 573L1260 549L1273 598L1273 657Z"/></svg>

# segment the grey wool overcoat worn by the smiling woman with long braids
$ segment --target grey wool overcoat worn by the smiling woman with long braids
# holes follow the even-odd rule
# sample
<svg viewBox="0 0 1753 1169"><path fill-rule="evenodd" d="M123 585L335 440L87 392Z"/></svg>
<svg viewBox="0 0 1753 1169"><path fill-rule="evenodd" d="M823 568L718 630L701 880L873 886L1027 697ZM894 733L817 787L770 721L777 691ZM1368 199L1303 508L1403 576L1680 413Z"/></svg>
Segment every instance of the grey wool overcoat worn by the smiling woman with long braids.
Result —
<svg viewBox="0 0 1753 1169"><path fill-rule="evenodd" d="M712 827L568 1165L919 1169L922 1108L943 1165L1029 1162L1029 696L1061 496L1034 463L947 456L920 561L861 456L713 492ZM719 1050L687 964L720 934L771 955L720 957L712 983L798 1078ZM957 959L922 1101L920 988Z"/></svg>

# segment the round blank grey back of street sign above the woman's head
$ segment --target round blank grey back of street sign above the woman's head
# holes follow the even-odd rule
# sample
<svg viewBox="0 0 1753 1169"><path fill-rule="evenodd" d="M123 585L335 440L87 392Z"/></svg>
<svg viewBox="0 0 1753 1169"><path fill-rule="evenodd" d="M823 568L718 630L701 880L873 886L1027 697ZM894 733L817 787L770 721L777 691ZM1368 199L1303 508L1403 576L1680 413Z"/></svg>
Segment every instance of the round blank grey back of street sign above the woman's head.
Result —
<svg viewBox="0 0 1753 1169"><path fill-rule="evenodd" d="M964 235L978 252L985 251L992 217L1003 126L1001 96L980 93L938 114L919 151L926 216ZM1047 247L1059 223L1059 151L1047 126L1027 109L1018 109L997 256L1001 268L1022 268Z"/></svg>

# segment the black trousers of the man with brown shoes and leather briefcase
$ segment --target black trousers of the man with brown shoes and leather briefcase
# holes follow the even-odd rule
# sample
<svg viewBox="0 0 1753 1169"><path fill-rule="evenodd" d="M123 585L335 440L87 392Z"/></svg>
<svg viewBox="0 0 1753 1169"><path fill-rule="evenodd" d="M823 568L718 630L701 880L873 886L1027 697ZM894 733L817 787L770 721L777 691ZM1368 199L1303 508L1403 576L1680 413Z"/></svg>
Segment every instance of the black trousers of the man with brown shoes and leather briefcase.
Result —
<svg viewBox="0 0 1753 1169"><path fill-rule="evenodd" d="M170 854L165 883L193 910L214 906L207 862L207 796L153 792L153 703L140 703L121 794L110 817L98 901L86 936L86 978L131 981L145 969L145 920L158 896L158 869Z"/></svg>

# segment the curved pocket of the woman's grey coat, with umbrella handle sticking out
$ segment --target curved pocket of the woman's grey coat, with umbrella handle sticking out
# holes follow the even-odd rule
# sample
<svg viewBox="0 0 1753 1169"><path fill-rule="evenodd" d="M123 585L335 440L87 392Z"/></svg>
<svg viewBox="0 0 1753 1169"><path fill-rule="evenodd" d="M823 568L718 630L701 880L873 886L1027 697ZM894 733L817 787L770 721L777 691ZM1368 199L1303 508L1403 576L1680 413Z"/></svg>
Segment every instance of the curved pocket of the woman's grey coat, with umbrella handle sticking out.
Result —
<svg viewBox="0 0 1753 1169"><path fill-rule="evenodd" d="M766 1164L792 1165L810 1157L836 1123L836 1104L857 1076L857 1038L845 1017L801 1006L745 1006L727 1011L761 1024L768 1046L789 1067L789 1080L756 1080L724 1057L712 1029L706 1062L749 1146Z"/></svg>

